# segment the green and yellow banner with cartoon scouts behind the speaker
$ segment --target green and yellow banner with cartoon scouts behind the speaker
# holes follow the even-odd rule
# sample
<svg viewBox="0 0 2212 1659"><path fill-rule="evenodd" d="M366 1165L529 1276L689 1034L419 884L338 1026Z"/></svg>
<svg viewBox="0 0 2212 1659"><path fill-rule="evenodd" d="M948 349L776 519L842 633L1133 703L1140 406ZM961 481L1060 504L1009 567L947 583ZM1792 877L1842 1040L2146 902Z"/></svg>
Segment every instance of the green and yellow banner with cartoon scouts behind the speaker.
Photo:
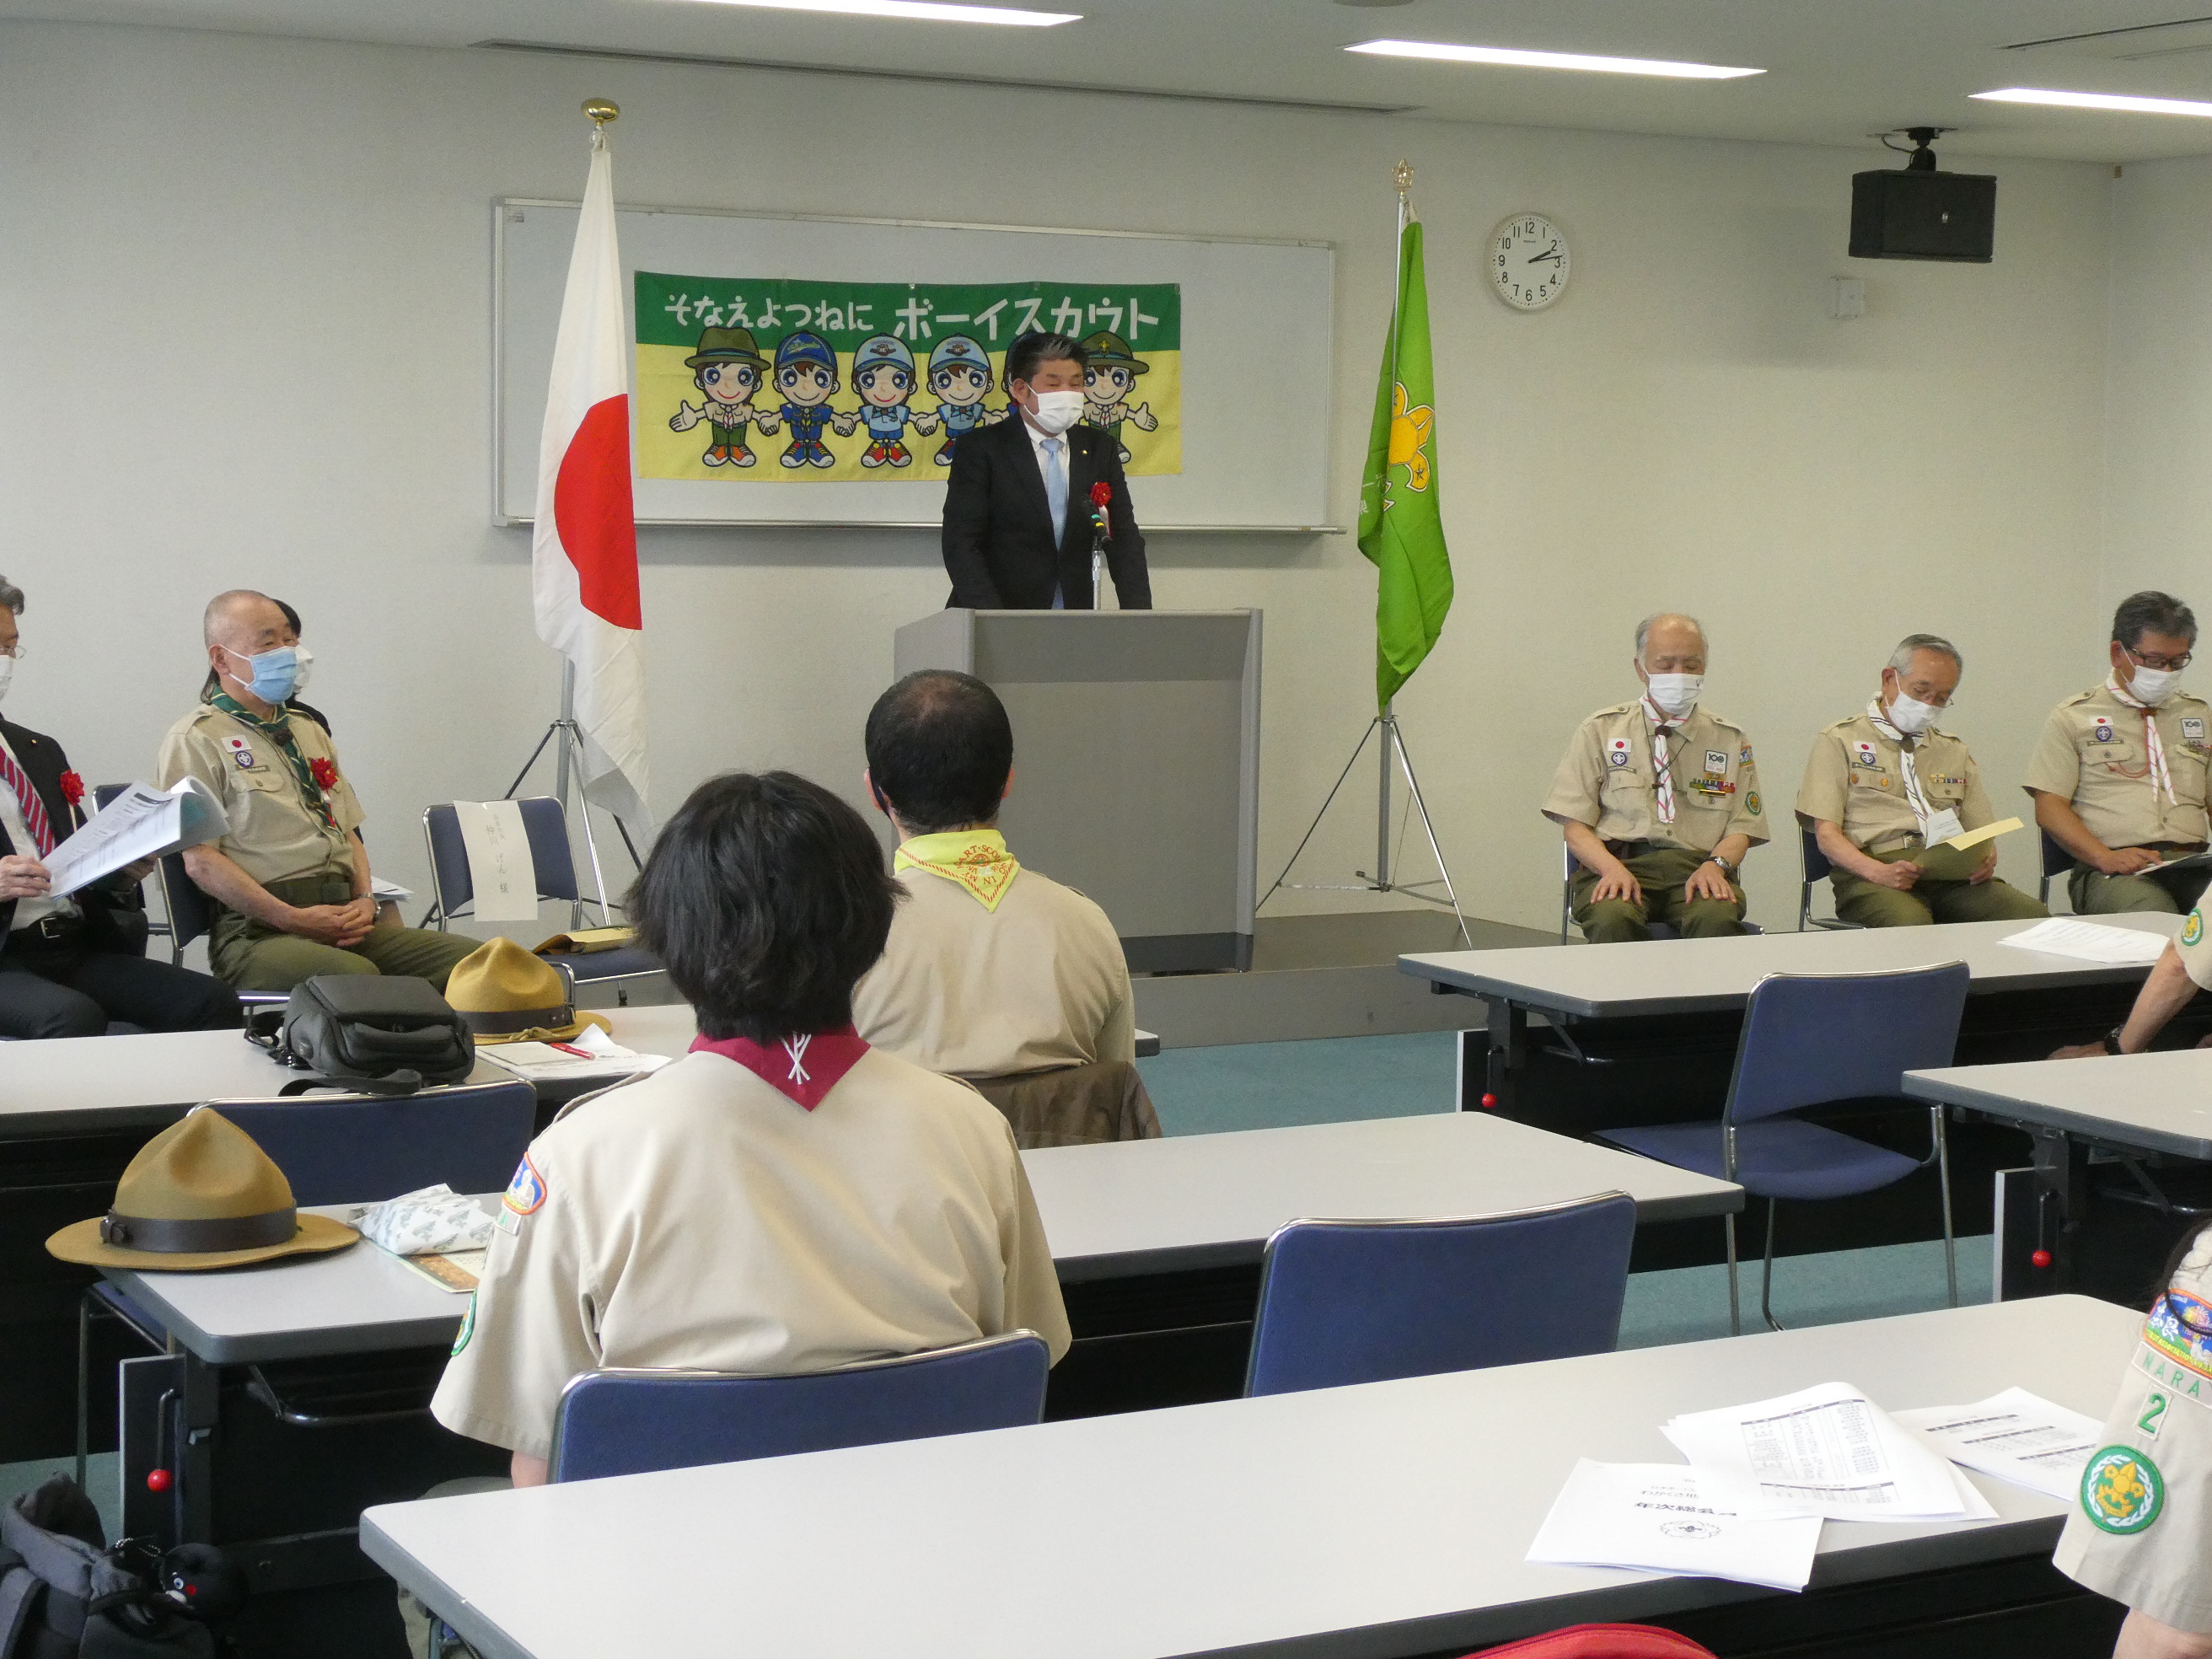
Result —
<svg viewBox="0 0 2212 1659"><path fill-rule="evenodd" d="M1183 471L1177 283L805 283L637 272L637 476L942 478L1006 414L1006 347L1091 352L1084 422L1130 476Z"/></svg>

